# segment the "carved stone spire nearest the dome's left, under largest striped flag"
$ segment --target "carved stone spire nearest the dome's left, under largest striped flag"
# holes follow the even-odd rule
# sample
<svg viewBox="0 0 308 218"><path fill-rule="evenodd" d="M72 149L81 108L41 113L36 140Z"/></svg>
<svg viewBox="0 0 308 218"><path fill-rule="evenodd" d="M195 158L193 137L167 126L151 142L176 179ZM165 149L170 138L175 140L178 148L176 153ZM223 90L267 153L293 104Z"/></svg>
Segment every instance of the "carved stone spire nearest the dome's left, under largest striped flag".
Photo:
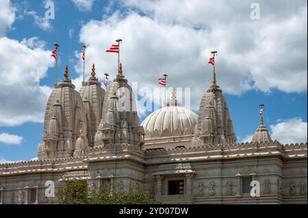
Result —
<svg viewBox="0 0 308 218"><path fill-rule="evenodd" d="M123 74L118 74L107 88L94 145L108 147L128 144L140 148L143 143L144 130L140 126L131 86Z"/></svg>

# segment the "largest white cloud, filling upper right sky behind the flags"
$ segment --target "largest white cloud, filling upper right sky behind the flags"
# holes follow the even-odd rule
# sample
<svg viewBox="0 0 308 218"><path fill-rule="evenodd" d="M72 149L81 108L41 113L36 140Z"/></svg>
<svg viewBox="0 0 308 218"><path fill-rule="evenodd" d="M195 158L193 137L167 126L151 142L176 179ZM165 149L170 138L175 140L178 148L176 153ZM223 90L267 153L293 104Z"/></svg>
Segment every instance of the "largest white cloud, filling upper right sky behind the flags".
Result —
<svg viewBox="0 0 308 218"><path fill-rule="evenodd" d="M104 72L115 77L117 57L101 49L122 38L121 62L130 82L158 87L157 79L167 72L168 87L191 87L195 110L211 84L211 49L218 50L218 85L224 92L307 92L307 3L261 1L255 21L252 2L120 1L130 10L89 21L79 33L88 45L86 76L96 63L99 78ZM75 81L81 80L80 63Z"/></svg>

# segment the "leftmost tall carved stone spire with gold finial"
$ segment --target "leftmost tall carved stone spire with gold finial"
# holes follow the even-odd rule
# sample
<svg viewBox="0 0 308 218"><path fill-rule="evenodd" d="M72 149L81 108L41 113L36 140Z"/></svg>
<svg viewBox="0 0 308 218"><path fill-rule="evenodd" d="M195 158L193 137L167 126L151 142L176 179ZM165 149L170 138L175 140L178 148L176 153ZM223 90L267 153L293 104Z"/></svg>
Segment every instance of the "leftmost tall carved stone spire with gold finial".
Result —
<svg viewBox="0 0 308 218"><path fill-rule="evenodd" d="M88 150L86 114L81 96L68 78L57 84L47 101L44 116L44 134L38 146L39 159L70 157ZM79 134L79 129L82 134ZM79 146L76 148L76 141ZM80 143L82 141L82 143ZM82 144L80 146L80 144Z"/></svg>

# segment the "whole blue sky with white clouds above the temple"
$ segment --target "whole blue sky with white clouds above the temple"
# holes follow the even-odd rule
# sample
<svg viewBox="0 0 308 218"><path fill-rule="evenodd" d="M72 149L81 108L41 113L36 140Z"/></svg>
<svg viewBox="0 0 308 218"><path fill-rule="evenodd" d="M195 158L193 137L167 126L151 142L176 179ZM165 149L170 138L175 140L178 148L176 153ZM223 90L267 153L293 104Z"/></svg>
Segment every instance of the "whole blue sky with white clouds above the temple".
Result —
<svg viewBox="0 0 308 218"><path fill-rule="evenodd" d="M0 12L8 13L0 16L0 46L6 49L0 59L0 161L36 156L54 83L53 42L60 43L60 78L68 65L78 90L82 44L88 45L86 78L94 62L103 81L104 72L116 74L116 57L104 51L122 38L129 82L153 89L168 72L170 87L191 88L196 113L211 83L209 51L217 49L218 85L238 141L257 128L260 103L272 137L307 141L307 2L259 1L256 21L252 2L0 0ZM44 20L46 3L55 5L54 20ZM149 113L140 113L140 121Z"/></svg>

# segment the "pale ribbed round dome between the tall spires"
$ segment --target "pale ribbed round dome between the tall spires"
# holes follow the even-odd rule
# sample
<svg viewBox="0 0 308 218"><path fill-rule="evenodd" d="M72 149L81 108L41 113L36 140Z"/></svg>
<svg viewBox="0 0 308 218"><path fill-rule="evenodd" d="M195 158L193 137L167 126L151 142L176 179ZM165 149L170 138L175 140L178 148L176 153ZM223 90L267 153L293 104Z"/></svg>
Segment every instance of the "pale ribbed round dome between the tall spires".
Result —
<svg viewBox="0 0 308 218"><path fill-rule="evenodd" d="M171 100L166 107L151 113L142 122L146 138L194 135L198 116Z"/></svg>

